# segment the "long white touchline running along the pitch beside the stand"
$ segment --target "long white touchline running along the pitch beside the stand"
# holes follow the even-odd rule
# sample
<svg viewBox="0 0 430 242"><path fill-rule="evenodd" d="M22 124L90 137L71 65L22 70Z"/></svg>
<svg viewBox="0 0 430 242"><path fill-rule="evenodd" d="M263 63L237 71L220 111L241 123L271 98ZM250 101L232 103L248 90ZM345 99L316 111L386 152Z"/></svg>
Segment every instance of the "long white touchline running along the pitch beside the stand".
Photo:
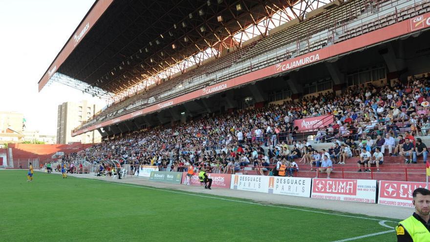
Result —
<svg viewBox="0 0 430 242"><path fill-rule="evenodd" d="M224 200L224 201L234 201L234 202L248 203L248 204L265 206L265 207L275 207L275 208L283 208L283 209L297 210L297 211L303 211L303 212L319 213L319 214L326 214L326 215L336 215L336 216L347 217L347 218L355 218L355 219L363 219L363 220L374 220L374 221L387 221L387 222L397 223L396 221L378 220L378 219L373 219L373 218L365 218L365 217L358 217L358 216L351 216L351 215L344 215L344 214L337 214L337 213L328 213L328 212L321 212L321 211L313 211L313 210L306 210L306 209L300 209L300 208L292 208L292 207L286 207L286 206L276 206L276 205L270 205L270 204L261 204L261 203L257 203L257 202L241 201L241 200L228 199L228 198L216 198L216 197L204 196L204 195L199 195L199 194L183 193L183 192L177 192L177 191L171 191L171 190L165 190L165 189L158 189L158 188L152 188L152 187L145 187L145 186L136 186L136 185L132 185L132 184L112 182L112 181L105 181L105 180L99 180L99 179L91 179L91 178L85 178L85 177L77 177L77 176L72 176L72 177L89 179L89 180L93 180L93 181L99 181L99 182L105 182L105 183L111 183L111 184L130 186L130 187L146 188L146 189L156 190L156 191L163 191L163 192L170 192L170 193L176 193L176 194L183 194L183 195L189 195L189 196L195 196L195 197L213 198L213 199L219 199L219 200Z"/></svg>

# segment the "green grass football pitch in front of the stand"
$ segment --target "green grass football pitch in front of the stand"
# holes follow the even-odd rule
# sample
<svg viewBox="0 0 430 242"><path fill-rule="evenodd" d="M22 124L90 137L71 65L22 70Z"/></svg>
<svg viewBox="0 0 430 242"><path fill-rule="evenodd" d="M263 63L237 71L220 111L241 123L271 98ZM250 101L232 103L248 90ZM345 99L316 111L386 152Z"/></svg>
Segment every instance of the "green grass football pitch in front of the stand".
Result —
<svg viewBox="0 0 430 242"><path fill-rule="evenodd" d="M395 241L392 219L23 170L0 184L2 242Z"/></svg>

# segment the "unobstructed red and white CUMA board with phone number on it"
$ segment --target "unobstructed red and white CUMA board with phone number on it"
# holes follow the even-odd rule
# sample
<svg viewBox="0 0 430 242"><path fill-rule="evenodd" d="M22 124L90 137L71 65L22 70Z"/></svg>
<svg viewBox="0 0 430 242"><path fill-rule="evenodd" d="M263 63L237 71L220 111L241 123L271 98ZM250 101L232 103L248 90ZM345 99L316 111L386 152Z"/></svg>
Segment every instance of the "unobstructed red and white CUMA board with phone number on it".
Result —
<svg viewBox="0 0 430 242"><path fill-rule="evenodd" d="M314 178L311 198L376 203L376 180Z"/></svg>

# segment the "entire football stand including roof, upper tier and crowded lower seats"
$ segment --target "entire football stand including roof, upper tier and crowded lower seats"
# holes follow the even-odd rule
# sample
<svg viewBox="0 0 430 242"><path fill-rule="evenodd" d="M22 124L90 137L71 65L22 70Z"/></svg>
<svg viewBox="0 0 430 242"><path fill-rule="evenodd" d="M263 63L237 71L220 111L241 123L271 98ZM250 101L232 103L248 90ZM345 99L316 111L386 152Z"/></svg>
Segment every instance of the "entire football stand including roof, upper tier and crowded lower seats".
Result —
<svg viewBox="0 0 430 242"><path fill-rule="evenodd" d="M393 146L403 145L399 134L429 145L429 1L317 2L196 1L190 13L179 1L165 7L182 14L174 22L143 21L133 13L121 33L105 36L118 27L108 23L142 6L96 1L39 82L39 89L57 81L112 97L72 133L98 130L102 143L64 159L94 165L112 159L129 169L157 165L173 171L193 163L218 173L236 167L258 175L259 160L270 171L285 158L299 164L294 176L324 177L301 163L324 149L334 154L332 178L423 181L423 155L409 160L401 150L386 149L378 170L358 172L357 149L373 153L387 133ZM205 51L213 52L182 65ZM174 65L182 65L180 71L159 75ZM336 156L348 149L337 142L352 151L344 163Z"/></svg>

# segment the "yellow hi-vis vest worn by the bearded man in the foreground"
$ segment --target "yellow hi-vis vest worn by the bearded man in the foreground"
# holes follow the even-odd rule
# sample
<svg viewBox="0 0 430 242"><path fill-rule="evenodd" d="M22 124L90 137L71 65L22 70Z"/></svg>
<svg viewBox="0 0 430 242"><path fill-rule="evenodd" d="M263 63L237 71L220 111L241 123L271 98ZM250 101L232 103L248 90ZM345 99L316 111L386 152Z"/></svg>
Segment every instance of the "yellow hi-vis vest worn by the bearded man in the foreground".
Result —
<svg viewBox="0 0 430 242"><path fill-rule="evenodd" d="M400 221L399 225L396 226L397 235L405 234L405 231L403 231L403 228L401 228L400 225L405 228L405 230L410 235L410 238L412 238L412 241L430 242L429 230L421 221L415 219L415 217L410 216L408 219Z"/></svg>

